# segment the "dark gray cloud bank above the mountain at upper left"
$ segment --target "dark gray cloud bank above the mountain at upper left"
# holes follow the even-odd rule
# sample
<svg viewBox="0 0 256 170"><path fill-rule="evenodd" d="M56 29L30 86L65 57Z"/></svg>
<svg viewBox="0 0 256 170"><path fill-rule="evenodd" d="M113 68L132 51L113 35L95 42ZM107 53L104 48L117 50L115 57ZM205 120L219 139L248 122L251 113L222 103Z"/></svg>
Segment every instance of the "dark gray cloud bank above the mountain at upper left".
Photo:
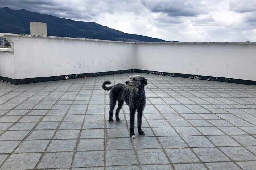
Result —
<svg viewBox="0 0 256 170"><path fill-rule="evenodd" d="M97 14L106 11L106 9L97 6L98 4L99 2L93 0L81 1L77 4L72 1L8 0L0 4L0 7L7 6L15 10L25 9L68 19L89 20ZM97 8L92 8L92 6L97 6Z"/></svg>

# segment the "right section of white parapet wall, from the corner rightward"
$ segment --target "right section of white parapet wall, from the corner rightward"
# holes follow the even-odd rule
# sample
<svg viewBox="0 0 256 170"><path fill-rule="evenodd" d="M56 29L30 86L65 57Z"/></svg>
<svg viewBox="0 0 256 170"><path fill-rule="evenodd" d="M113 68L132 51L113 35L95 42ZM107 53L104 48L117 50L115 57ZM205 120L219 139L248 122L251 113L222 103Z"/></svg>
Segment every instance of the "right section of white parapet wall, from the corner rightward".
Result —
<svg viewBox="0 0 256 170"><path fill-rule="evenodd" d="M139 44L136 69L256 81L255 43Z"/></svg>

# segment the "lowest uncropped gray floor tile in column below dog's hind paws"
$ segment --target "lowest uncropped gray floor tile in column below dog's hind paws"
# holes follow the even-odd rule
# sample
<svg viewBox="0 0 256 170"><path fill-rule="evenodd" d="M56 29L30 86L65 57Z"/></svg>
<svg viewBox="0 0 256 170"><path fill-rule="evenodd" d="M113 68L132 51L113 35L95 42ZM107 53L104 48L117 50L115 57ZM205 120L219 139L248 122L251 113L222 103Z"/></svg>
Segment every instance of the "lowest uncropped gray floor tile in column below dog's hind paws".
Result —
<svg viewBox="0 0 256 170"><path fill-rule="evenodd" d="M136 165L134 150L113 150L106 152L106 165Z"/></svg>

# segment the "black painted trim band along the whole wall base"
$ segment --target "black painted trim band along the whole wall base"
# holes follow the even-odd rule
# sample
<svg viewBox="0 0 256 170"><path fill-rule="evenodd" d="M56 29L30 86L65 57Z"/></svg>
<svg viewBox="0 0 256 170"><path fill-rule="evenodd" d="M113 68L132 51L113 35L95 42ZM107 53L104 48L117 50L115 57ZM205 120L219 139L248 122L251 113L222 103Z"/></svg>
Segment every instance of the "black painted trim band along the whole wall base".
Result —
<svg viewBox="0 0 256 170"><path fill-rule="evenodd" d="M133 72L157 74L157 75L163 75L163 76L193 78L193 79L209 80L209 81L221 81L221 82L238 83L238 84L246 84L246 85L256 85L256 81L253 81L253 80L243 80L243 79L234 79L234 78L225 78L225 77L210 77L210 76L180 74L180 73L167 73L167 72L149 71L149 70L141 70L141 69L129 69L129 70L106 71L106 72L83 73L83 74L69 74L69 75L61 75L61 76L35 77L35 78L24 78L24 79L12 79L8 77L0 76L0 81L8 82L15 85L20 85L20 84L28 84L28 83L39 83L44 81L83 78L84 76L96 77L96 76L106 76L106 75L113 75L113 74L133 73Z"/></svg>

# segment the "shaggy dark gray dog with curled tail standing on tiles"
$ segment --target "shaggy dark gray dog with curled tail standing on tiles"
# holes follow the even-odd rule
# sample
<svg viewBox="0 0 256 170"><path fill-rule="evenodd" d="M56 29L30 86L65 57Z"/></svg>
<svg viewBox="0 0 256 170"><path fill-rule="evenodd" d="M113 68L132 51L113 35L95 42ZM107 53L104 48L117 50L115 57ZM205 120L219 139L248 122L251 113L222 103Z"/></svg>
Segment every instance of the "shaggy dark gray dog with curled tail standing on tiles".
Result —
<svg viewBox="0 0 256 170"><path fill-rule="evenodd" d="M119 119L119 111L125 103L129 106L130 110L130 137L135 138L134 134L134 119L135 112L137 110L138 119L138 133L140 135L145 135L144 131L141 129L143 110L146 105L145 96L145 85L147 85L147 79L145 77L135 75L131 76L130 80L126 81L125 84L116 84L107 87L107 84L111 84L110 81L104 81L102 84L102 89L109 91L109 123L113 123L113 110L116 106L116 101L118 101L118 108L116 109L116 121L121 122Z"/></svg>

